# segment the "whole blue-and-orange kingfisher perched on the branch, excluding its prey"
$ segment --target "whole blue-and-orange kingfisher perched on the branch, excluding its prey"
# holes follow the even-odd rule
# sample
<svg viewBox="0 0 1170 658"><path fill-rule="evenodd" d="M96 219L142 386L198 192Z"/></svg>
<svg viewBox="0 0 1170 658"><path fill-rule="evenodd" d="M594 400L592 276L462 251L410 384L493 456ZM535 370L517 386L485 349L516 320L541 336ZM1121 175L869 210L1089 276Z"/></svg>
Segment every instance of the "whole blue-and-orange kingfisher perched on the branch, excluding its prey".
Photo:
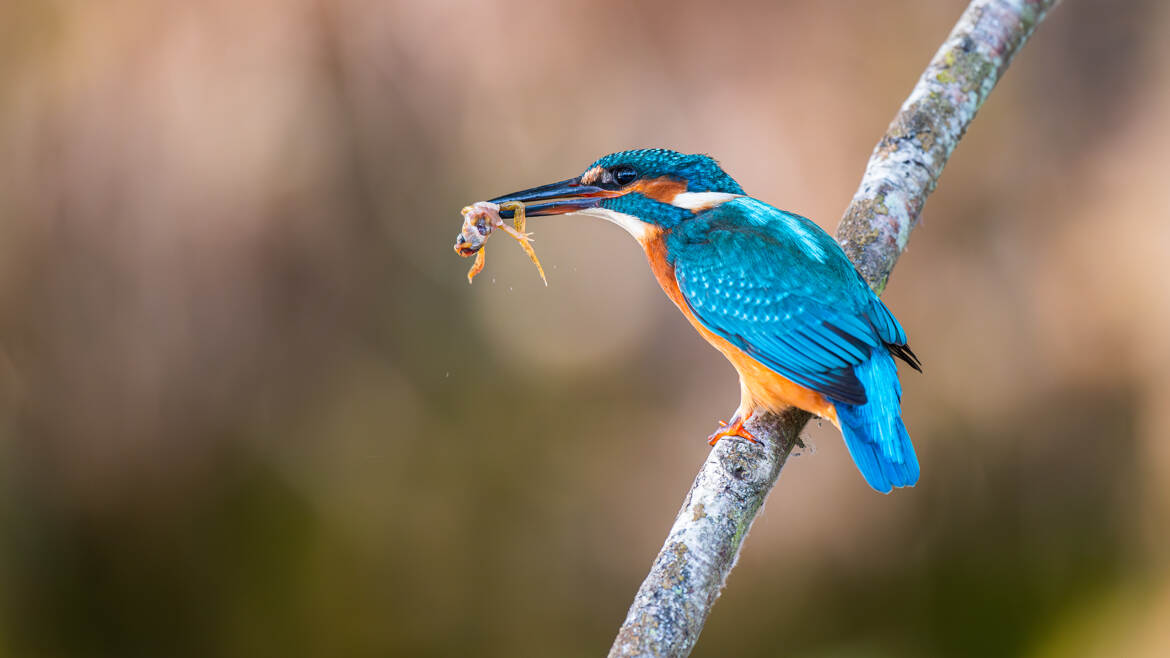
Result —
<svg viewBox="0 0 1170 658"><path fill-rule="evenodd" d="M758 443L744 421L797 406L841 432L874 489L917 482L894 357L920 372L921 362L812 220L749 197L709 156L668 149L612 153L580 176L491 199L515 201L528 217L592 215L638 240L666 295L739 373L739 406L711 445Z"/></svg>

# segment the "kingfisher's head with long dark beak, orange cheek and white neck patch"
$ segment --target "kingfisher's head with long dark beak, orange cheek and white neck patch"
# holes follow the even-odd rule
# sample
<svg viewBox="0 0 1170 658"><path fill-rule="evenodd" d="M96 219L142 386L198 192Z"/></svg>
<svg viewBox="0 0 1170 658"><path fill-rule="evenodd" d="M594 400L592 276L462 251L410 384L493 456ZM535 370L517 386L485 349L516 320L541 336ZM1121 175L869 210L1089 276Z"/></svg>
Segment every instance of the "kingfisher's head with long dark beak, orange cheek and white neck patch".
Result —
<svg viewBox="0 0 1170 658"><path fill-rule="evenodd" d="M640 149L605 156L580 176L491 201L522 201L528 217L592 214L640 238L651 226L670 229L742 194L739 184L709 156Z"/></svg>

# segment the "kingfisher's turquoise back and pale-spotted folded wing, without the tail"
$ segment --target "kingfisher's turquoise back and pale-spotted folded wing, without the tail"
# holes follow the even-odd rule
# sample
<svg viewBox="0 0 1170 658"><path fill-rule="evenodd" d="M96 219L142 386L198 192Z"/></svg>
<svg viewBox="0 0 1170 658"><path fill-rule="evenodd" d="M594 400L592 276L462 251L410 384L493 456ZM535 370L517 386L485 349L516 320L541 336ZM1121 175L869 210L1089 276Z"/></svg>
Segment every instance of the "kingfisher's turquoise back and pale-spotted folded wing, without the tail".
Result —
<svg viewBox="0 0 1170 658"><path fill-rule="evenodd" d="M865 404L855 366L883 343L904 343L904 331L820 227L745 201L696 220L672 245L691 311L779 375Z"/></svg>

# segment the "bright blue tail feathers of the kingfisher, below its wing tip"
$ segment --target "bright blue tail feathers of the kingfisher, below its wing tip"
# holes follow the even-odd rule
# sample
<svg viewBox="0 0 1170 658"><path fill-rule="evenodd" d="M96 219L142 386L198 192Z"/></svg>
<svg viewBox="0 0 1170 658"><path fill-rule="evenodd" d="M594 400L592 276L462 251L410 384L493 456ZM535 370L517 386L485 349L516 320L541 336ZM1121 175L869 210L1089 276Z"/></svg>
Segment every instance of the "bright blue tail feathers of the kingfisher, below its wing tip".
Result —
<svg viewBox="0 0 1170 658"><path fill-rule="evenodd" d="M902 424L902 385L885 348L856 366L866 404L837 403L845 445L869 486L881 493L918 481L918 458Z"/></svg>

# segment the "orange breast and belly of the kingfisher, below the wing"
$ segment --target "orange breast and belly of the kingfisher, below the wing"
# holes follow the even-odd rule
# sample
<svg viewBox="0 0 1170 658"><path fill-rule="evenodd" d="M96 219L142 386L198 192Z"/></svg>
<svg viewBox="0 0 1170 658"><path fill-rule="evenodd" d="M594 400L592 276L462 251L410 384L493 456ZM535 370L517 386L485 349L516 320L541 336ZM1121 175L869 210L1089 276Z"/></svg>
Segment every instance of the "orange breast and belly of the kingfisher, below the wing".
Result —
<svg viewBox="0 0 1170 658"><path fill-rule="evenodd" d="M777 373L763 363L748 356L746 352L728 342L722 336L715 334L695 317L690 306L679 289L679 282L674 276L674 267L666 260L666 245L662 244L662 231L651 231L645 239L639 240L646 249L646 258L654 270L654 277L674 306L679 307L691 327L715 345L715 349L723 352L723 356L731 362L731 365L739 372L739 383L743 388L743 400L741 411L746 416L755 409L766 409L769 411L780 411L787 406L796 406L810 413L828 418L837 424L837 409L833 403L817 391L801 386L796 382Z"/></svg>

